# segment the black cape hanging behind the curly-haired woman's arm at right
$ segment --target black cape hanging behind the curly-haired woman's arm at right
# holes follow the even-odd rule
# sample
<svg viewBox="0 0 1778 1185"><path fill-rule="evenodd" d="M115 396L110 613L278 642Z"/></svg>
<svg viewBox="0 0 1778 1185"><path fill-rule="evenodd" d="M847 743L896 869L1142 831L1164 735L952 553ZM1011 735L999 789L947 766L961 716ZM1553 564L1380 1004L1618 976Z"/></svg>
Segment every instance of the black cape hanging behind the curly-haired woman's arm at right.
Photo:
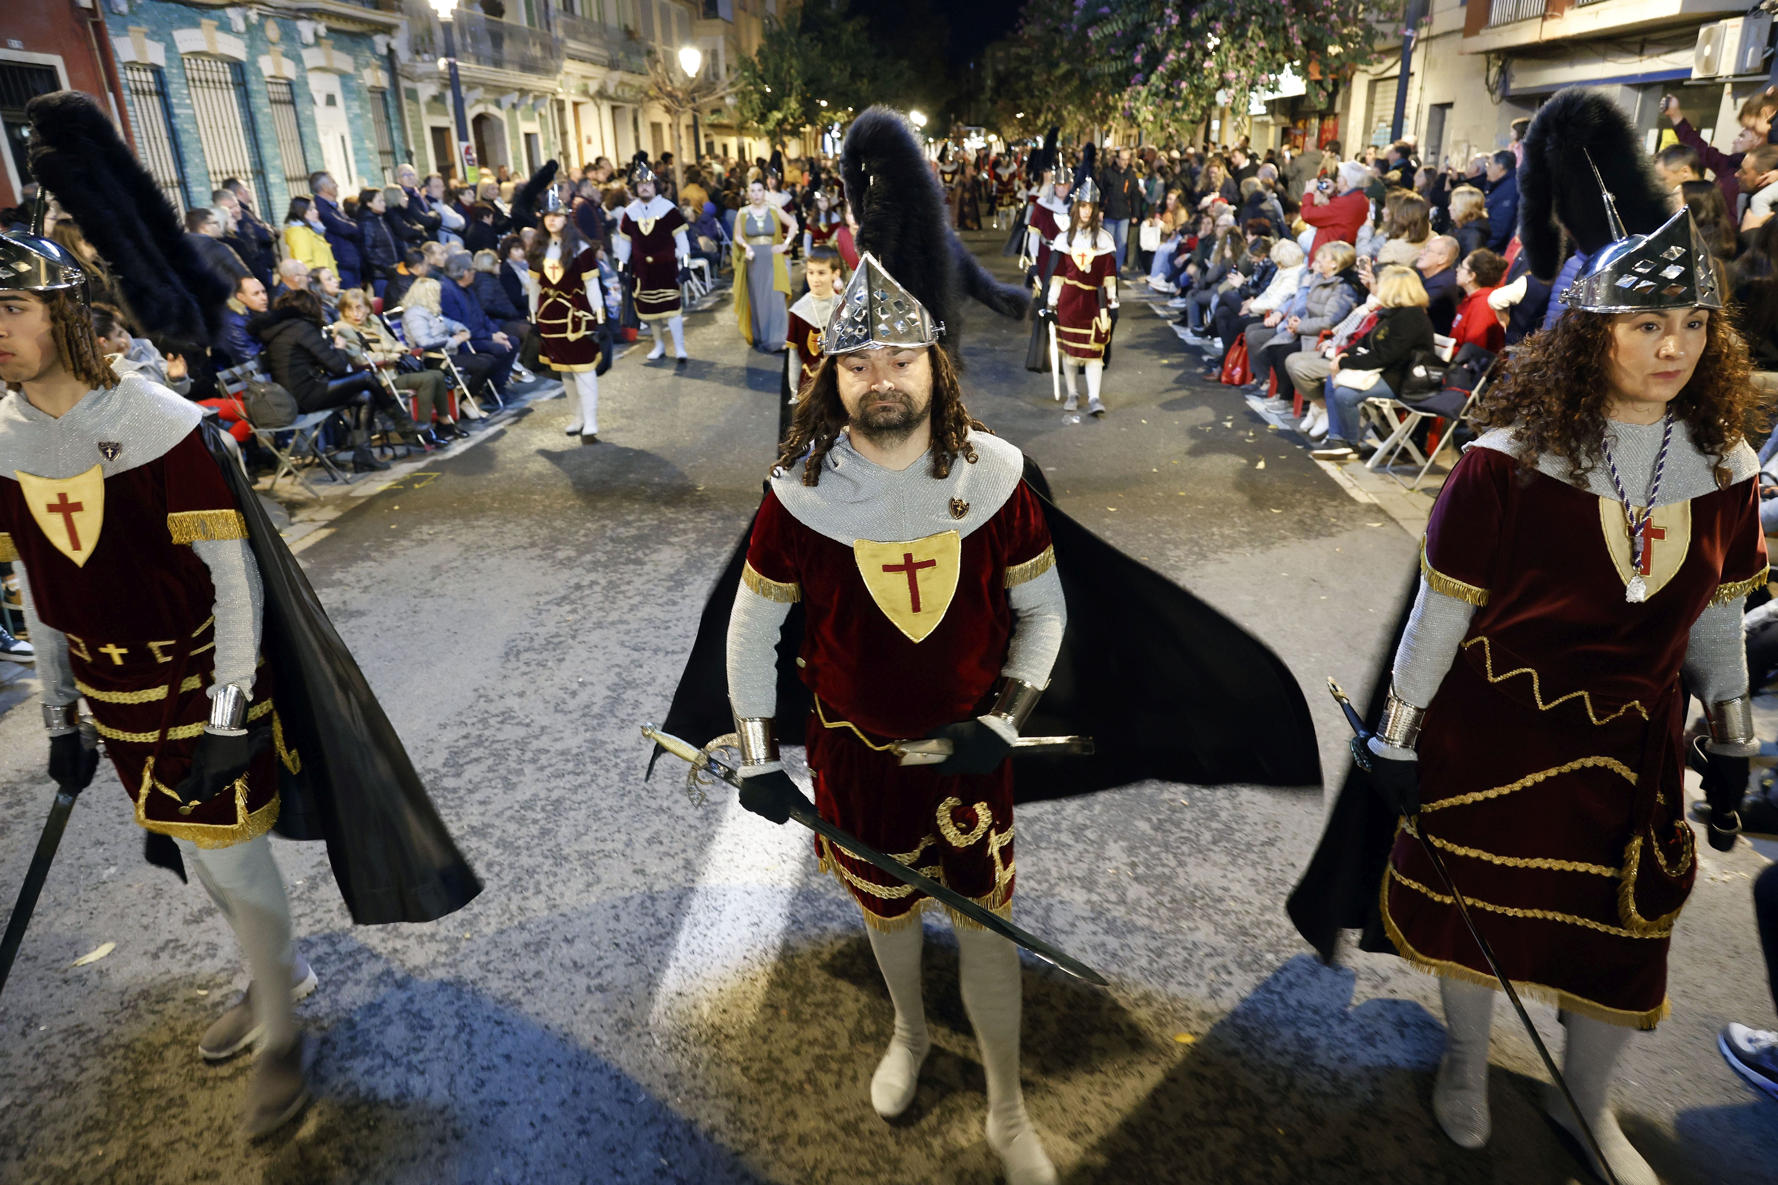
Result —
<svg viewBox="0 0 1778 1185"><path fill-rule="evenodd" d="M1383 716L1396 650L1408 629L1417 588L1415 567L1401 613L1396 615L1396 631L1371 677L1371 700L1364 711L1364 720L1371 727ZM1371 780L1357 766L1348 764L1346 780L1341 782L1321 842L1303 869L1303 879L1284 904L1296 933L1309 940L1323 963L1334 961L1342 929L1364 931L1358 938L1360 950L1399 954L1383 931L1380 908L1383 872L1394 846L1396 812L1371 789Z"/></svg>

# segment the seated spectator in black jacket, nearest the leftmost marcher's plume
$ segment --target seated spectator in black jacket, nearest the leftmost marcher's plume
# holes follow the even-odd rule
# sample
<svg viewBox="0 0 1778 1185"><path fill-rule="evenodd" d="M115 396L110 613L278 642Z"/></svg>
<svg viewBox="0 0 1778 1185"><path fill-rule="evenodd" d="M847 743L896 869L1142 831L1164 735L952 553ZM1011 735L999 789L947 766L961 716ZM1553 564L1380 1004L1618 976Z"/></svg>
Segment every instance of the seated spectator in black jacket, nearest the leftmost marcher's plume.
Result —
<svg viewBox="0 0 1778 1185"><path fill-rule="evenodd" d="M308 412L329 409L356 409L348 419L352 428L352 473L388 469L370 451L372 407L382 410L414 446L420 435L407 409L395 402L368 370L356 368L340 348L336 338L322 327L322 300L313 291L284 293L272 302L247 329L265 343L265 368L272 382L295 396L297 407Z"/></svg>

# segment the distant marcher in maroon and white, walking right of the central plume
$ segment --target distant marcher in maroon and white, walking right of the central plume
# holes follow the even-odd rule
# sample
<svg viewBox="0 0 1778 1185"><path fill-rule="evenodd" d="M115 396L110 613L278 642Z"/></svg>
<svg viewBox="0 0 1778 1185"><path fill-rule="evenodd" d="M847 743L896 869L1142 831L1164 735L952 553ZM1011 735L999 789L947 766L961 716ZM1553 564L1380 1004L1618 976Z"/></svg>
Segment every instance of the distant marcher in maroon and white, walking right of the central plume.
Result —
<svg viewBox="0 0 1778 1185"><path fill-rule="evenodd" d="M1051 243L1056 270L1049 277L1044 316L1056 330L1069 400L1063 410L1081 405L1079 373L1086 370L1086 410L1104 416L1099 400L1111 325L1117 322L1117 243L1101 227L1099 187L1088 176L1074 188L1069 231Z"/></svg>

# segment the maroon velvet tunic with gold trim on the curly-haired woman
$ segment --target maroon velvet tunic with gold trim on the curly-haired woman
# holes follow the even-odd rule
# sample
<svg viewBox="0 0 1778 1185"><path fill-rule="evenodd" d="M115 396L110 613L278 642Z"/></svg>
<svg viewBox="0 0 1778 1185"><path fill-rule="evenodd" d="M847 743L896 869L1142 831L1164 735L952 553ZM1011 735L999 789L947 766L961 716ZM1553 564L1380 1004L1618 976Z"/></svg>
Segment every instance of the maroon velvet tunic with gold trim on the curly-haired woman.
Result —
<svg viewBox="0 0 1778 1185"><path fill-rule="evenodd" d="M1652 1029L1696 878L1680 664L1710 604L1766 579L1757 481L1655 510L1648 599L1623 599L1623 508L1470 448L1426 529L1428 585L1476 606L1426 709L1419 826L1522 990ZM1398 831L1383 924L1408 959L1494 982L1419 842Z"/></svg>

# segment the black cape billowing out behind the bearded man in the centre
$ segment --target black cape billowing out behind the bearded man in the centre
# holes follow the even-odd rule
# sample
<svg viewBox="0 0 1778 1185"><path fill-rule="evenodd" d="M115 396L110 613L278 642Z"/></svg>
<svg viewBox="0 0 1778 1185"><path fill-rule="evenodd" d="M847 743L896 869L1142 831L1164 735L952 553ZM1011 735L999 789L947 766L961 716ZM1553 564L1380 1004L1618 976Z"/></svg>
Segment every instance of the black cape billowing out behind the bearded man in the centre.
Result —
<svg viewBox="0 0 1778 1185"><path fill-rule="evenodd" d="M1321 785L1314 723L1294 675L1264 643L1179 585L1131 560L1037 492L1056 547L1069 625L1026 736L1090 736L1093 757L1021 757L1013 801L1029 803L1159 778L1191 785ZM667 732L708 744L734 730L725 664L729 611L749 524L699 622ZM802 743L811 693L797 677L802 606L779 641L779 739ZM656 750L658 755L660 750Z"/></svg>

